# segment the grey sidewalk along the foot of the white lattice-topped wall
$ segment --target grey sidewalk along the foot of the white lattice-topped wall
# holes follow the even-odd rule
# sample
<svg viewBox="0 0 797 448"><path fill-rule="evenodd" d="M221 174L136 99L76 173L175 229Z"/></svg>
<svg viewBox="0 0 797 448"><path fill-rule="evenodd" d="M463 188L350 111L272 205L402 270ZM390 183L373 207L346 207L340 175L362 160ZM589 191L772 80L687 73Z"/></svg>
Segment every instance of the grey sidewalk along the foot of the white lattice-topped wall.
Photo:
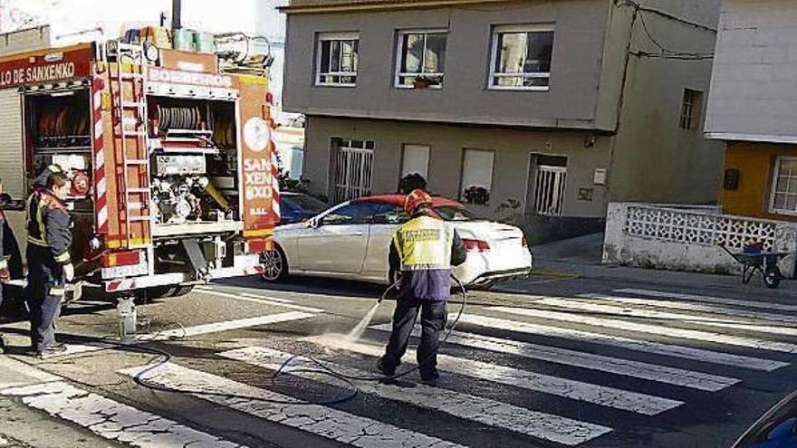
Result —
<svg viewBox="0 0 797 448"><path fill-rule="evenodd" d="M659 271L601 264L603 234L591 234L542 244L532 248L534 270L537 275L528 284L539 281L540 276L578 276L581 279L645 283L686 289L733 290L736 293L749 291L750 294L766 294L771 297L797 297L797 281L783 281L777 290L768 290L761 278L756 277L749 285L742 284L741 278L733 275L702 274L696 272ZM514 288L523 286L523 281L515 283Z"/></svg>

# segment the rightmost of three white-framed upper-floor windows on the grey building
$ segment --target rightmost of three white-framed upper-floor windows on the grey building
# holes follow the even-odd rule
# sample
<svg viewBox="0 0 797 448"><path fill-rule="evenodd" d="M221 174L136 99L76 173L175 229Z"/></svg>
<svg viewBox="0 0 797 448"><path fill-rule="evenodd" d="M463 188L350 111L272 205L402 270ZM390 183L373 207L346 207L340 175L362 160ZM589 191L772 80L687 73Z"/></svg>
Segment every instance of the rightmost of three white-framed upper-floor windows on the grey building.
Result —
<svg viewBox="0 0 797 448"><path fill-rule="evenodd" d="M495 26L492 53L491 89L548 90L553 53L551 25Z"/></svg>

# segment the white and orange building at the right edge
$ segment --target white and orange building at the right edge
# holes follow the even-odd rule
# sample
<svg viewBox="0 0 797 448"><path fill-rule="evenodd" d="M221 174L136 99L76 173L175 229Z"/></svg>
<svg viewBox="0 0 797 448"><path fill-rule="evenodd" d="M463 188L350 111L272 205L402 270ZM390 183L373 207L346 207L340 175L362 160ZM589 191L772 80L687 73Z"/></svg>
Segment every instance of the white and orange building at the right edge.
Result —
<svg viewBox="0 0 797 448"><path fill-rule="evenodd" d="M706 136L725 140L725 213L797 221L797 4L725 0Z"/></svg>

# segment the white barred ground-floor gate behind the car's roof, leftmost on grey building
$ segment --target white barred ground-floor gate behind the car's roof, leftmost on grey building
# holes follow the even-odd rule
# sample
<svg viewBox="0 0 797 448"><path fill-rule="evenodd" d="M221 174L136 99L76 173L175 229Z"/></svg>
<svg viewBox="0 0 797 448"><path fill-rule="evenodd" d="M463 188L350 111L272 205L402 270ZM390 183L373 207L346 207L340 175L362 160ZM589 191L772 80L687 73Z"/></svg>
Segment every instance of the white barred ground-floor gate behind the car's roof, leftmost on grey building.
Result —
<svg viewBox="0 0 797 448"><path fill-rule="evenodd" d="M335 160L335 202L370 195L373 149L341 147Z"/></svg>

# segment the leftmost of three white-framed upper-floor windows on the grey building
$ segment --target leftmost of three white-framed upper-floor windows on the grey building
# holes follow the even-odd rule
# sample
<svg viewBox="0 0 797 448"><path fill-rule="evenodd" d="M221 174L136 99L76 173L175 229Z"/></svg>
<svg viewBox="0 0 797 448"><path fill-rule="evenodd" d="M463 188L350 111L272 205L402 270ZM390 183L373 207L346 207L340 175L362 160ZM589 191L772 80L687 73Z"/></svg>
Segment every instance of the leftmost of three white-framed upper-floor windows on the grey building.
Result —
<svg viewBox="0 0 797 448"><path fill-rule="evenodd" d="M315 83L322 86L357 85L359 47L358 33L319 34Z"/></svg>

